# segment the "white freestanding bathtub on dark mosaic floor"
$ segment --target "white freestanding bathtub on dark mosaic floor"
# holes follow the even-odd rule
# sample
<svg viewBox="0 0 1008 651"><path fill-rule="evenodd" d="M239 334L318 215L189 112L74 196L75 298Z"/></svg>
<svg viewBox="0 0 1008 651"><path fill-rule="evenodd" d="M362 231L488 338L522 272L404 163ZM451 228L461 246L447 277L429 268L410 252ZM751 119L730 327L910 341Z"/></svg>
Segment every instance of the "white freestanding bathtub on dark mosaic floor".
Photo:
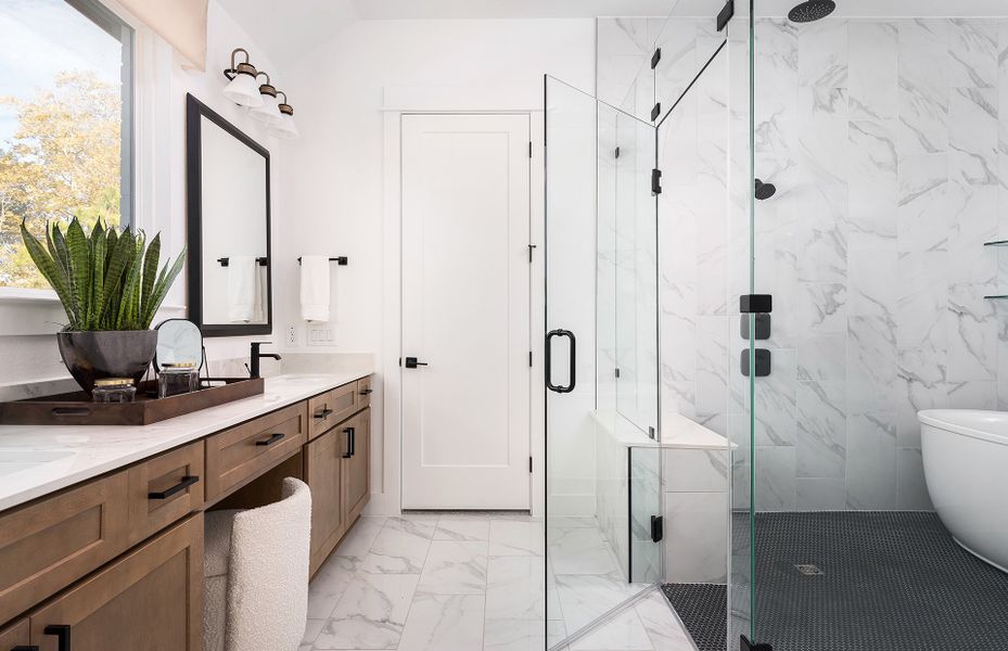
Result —
<svg viewBox="0 0 1008 651"><path fill-rule="evenodd" d="M931 409L917 418L939 518L967 551L1008 572L1008 412Z"/></svg>

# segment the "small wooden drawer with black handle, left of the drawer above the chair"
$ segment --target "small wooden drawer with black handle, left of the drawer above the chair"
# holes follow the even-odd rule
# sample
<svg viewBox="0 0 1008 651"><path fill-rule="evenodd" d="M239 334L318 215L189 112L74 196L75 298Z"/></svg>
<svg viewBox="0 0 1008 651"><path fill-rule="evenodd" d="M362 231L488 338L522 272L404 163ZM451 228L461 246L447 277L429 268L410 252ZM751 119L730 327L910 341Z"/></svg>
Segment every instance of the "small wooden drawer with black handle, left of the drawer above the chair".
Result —
<svg viewBox="0 0 1008 651"><path fill-rule="evenodd" d="M203 442L154 457L127 474L129 544L133 545L203 506Z"/></svg>

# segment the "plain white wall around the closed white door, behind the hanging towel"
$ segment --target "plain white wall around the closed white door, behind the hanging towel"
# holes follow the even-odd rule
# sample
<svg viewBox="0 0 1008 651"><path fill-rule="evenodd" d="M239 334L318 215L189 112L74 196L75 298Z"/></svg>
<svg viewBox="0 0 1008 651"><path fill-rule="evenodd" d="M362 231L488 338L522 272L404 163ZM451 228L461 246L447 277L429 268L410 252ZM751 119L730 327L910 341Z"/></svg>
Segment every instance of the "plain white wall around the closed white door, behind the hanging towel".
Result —
<svg viewBox="0 0 1008 651"><path fill-rule="evenodd" d="M388 298L383 288L387 270L398 269L398 260L383 253L386 98L441 93L472 98L475 106L494 94L487 89L498 95L507 89L508 107L533 110L543 103L544 73L591 91L594 58L591 20L362 21L285 71L302 139L293 143L290 163L278 177L275 204L285 210L275 220L275 278L279 286L296 288L298 255L349 257L348 266L333 269L333 318L327 328L334 331L335 343L329 350L373 352L378 369L386 363L381 355ZM278 328L285 332L295 326L294 347L303 348L306 332L296 291L279 292L275 309ZM387 438L396 423L382 426L383 386L377 390L372 431ZM392 496L391 502L374 500L375 508L383 508L397 501L397 444L390 446L384 464L384 439L375 439L372 449L372 492Z"/></svg>

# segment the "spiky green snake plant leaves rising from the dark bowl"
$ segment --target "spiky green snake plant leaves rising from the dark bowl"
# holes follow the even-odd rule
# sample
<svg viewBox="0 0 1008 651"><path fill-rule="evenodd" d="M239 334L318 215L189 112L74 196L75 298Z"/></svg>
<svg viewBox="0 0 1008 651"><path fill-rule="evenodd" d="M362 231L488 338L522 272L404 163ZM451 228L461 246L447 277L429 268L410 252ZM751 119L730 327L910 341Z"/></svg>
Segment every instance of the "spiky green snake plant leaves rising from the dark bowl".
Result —
<svg viewBox="0 0 1008 651"><path fill-rule="evenodd" d="M86 234L76 217L64 232L46 224L46 243L21 225L28 255L66 310L64 331L148 330L182 270L186 250L157 271L161 233L150 244L143 231L122 232L99 221Z"/></svg>

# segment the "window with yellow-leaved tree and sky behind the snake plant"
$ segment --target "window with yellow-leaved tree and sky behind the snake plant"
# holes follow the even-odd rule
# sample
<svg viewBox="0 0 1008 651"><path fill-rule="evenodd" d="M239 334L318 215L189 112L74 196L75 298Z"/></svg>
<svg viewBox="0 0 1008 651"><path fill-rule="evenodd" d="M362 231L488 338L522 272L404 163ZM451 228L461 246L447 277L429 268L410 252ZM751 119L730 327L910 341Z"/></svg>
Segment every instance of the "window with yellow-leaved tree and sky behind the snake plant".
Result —
<svg viewBox="0 0 1008 651"><path fill-rule="evenodd" d="M0 288L44 289L25 220L132 216L132 29L97 0L0 0Z"/></svg>

